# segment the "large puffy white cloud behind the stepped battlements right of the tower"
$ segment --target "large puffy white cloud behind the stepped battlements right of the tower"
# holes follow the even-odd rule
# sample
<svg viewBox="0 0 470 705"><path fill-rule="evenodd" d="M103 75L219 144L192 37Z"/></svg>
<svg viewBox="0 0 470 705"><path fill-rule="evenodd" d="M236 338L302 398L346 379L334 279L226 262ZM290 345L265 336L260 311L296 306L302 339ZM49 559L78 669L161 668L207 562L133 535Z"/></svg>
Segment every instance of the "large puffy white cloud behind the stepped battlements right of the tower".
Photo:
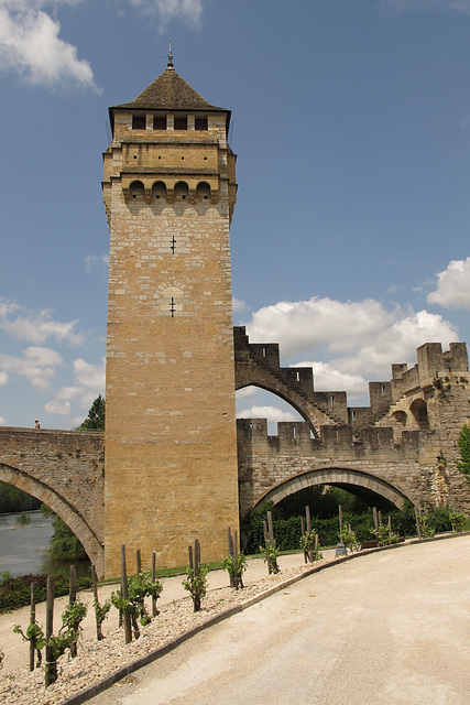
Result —
<svg viewBox="0 0 470 705"><path fill-rule="evenodd" d="M328 362L317 368L342 376L345 388L359 393L359 377L387 380L393 362L416 362L416 348L458 340L457 330L437 314L395 306L392 311L373 300L340 302L315 296L309 301L280 302L253 313L247 324L252 343L280 343L281 364L293 358ZM295 360L295 362L296 362ZM345 378L343 376L352 376ZM337 378L340 381L340 378ZM338 390L338 386L335 383ZM339 388L340 389L340 388Z"/></svg>

